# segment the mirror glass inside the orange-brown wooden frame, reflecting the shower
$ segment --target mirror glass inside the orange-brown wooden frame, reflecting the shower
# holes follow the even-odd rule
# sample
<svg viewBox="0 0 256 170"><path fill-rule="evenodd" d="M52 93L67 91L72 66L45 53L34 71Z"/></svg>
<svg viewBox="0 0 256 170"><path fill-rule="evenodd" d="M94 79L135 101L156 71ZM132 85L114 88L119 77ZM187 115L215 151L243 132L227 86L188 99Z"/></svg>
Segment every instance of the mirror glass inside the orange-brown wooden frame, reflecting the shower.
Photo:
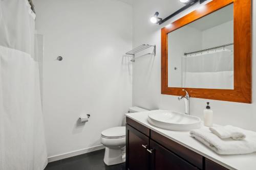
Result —
<svg viewBox="0 0 256 170"><path fill-rule="evenodd" d="M168 33L168 87L233 89L233 4Z"/></svg>

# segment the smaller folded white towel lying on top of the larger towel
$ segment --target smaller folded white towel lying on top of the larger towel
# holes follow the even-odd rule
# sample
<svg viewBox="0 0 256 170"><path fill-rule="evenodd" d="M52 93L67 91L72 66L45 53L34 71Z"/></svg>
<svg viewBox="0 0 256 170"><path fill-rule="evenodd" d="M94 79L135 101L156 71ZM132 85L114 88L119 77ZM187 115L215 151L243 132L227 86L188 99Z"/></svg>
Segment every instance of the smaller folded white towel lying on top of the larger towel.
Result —
<svg viewBox="0 0 256 170"><path fill-rule="evenodd" d="M214 126L210 127L209 130L219 136L222 139L232 138L234 140L242 140L246 135L240 130L240 128L233 127L231 125L227 126Z"/></svg>

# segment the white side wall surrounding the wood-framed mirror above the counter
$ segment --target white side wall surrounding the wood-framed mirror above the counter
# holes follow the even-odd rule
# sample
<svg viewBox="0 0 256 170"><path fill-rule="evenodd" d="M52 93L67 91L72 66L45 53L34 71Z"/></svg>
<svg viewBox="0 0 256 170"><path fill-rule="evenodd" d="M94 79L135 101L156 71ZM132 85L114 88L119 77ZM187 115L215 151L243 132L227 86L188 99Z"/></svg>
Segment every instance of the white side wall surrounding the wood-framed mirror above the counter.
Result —
<svg viewBox="0 0 256 170"><path fill-rule="evenodd" d="M176 2L176 1L175 1ZM175 3L172 1L172 3ZM178 1L177 1L178 2ZM136 60L133 67L133 104L136 106L144 107L147 109L168 109L184 112L183 101L178 101L177 96L162 95L161 94L161 32L160 29L168 23L175 21L177 18L188 13L185 11L180 15L170 19L163 25L153 25L150 23L149 18L158 11L160 17L165 17L172 13L173 6L165 0L138 0L134 4L134 17L133 17L133 46L140 45L141 43L156 44L157 55L156 57L140 57ZM177 7L177 6L176 6ZM194 10L197 6L190 8ZM178 9L178 8L177 8ZM203 10L200 8L199 10ZM256 4L253 3L253 22L256 23ZM256 36L255 26L253 25L253 49L256 49ZM231 124L246 129L256 131L256 103L255 103L255 75L256 75L256 53L253 51L252 57L252 104L214 101L205 99L191 98L190 109L191 114L200 116L202 118L203 109L206 102L209 101L211 108L214 110L214 123L226 125Z"/></svg>

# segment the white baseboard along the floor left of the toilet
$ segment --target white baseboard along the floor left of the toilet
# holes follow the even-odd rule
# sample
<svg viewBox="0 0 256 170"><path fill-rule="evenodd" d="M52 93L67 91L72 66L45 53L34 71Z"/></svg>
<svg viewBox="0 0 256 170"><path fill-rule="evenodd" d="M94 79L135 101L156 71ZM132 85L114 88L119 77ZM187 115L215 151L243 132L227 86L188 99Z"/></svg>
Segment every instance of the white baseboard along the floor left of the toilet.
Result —
<svg viewBox="0 0 256 170"><path fill-rule="evenodd" d="M104 149L104 148L105 148L104 145L100 144L100 145L97 145L97 146L91 147L91 148L85 148L85 149L81 149L81 150L77 150L77 151L73 151L73 152L68 152L68 153L65 153L65 154L50 156L50 157L48 157L48 162L53 162L53 161L57 161L57 160L60 160L60 159L66 159L66 158L69 158L69 157L86 154L86 153L101 150L101 149Z"/></svg>

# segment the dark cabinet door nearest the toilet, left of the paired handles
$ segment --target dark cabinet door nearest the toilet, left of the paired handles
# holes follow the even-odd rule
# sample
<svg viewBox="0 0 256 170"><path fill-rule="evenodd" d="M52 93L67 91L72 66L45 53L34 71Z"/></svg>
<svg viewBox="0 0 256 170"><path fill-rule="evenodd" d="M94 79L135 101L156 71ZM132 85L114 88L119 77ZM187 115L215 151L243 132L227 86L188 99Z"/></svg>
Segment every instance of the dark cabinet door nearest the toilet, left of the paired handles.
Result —
<svg viewBox="0 0 256 170"><path fill-rule="evenodd" d="M149 138L126 124L126 169L148 169Z"/></svg>

